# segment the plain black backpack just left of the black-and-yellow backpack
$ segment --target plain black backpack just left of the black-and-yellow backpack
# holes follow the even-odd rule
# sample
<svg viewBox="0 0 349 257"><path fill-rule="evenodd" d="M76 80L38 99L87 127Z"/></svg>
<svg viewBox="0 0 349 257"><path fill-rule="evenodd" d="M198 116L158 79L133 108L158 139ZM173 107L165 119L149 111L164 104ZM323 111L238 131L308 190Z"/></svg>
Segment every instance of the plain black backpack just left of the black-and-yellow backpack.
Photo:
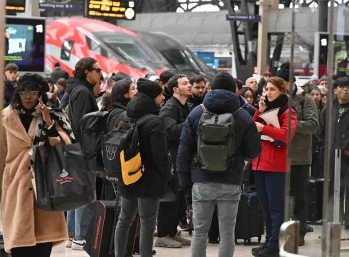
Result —
<svg viewBox="0 0 349 257"><path fill-rule="evenodd" d="M103 171L102 137L105 134L109 112L90 112L81 121L81 148L90 171Z"/></svg>

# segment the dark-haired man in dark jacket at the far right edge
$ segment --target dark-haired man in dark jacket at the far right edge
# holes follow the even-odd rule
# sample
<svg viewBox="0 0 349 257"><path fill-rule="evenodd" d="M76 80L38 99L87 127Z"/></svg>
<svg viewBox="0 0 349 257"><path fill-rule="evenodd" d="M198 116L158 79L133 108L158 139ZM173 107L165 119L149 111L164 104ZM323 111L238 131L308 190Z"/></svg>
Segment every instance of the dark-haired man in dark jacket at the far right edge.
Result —
<svg viewBox="0 0 349 257"><path fill-rule="evenodd" d="M342 77L333 83L336 98L332 108L331 142L325 142L327 106L322 109L320 117L320 144L331 146L331 170L334 170L334 152L340 149L341 155L341 184L340 184L340 215L346 227L349 226L349 77ZM331 174L333 179L334 174ZM332 180L333 181L333 180ZM345 193L347 191L347 193ZM332 191L333 192L333 188ZM344 210L344 195L346 208Z"/></svg>

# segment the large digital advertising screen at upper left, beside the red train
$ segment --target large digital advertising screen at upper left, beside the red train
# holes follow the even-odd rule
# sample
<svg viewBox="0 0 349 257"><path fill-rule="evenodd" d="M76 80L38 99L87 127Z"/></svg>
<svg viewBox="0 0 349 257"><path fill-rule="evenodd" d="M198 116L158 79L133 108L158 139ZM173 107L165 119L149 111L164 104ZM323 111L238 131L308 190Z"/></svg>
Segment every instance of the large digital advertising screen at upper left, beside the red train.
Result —
<svg viewBox="0 0 349 257"><path fill-rule="evenodd" d="M19 71L43 72L45 66L45 19L6 17L5 63Z"/></svg>

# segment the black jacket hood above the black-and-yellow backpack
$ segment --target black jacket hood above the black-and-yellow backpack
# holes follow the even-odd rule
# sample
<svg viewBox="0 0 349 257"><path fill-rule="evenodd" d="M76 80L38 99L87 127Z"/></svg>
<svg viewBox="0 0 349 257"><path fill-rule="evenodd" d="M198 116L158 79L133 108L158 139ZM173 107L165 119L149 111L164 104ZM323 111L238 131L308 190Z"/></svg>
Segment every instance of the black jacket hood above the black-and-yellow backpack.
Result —
<svg viewBox="0 0 349 257"><path fill-rule="evenodd" d="M159 114L159 107L150 96L138 92L127 104L127 116L138 118L148 113Z"/></svg>

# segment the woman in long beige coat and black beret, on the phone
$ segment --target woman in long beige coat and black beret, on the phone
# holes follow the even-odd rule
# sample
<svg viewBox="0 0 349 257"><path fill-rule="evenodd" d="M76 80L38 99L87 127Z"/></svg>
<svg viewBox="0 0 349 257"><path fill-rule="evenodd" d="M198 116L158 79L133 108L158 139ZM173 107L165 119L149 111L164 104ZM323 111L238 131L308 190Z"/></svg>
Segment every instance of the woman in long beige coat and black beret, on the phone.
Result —
<svg viewBox="0 0 349 257"><path fill-rule="evenodd" d="M63 212L36 207L32 185L32 145L42 115L45 145L71 143L62 120L46 106L47 81L27 73L18 80L12 103L2 112L1 224L5 251L12 257L49 257L52 246L68 239ZM64 115L61 113L61 115ZM66 126L65 126L66 127Z"/></svg>

